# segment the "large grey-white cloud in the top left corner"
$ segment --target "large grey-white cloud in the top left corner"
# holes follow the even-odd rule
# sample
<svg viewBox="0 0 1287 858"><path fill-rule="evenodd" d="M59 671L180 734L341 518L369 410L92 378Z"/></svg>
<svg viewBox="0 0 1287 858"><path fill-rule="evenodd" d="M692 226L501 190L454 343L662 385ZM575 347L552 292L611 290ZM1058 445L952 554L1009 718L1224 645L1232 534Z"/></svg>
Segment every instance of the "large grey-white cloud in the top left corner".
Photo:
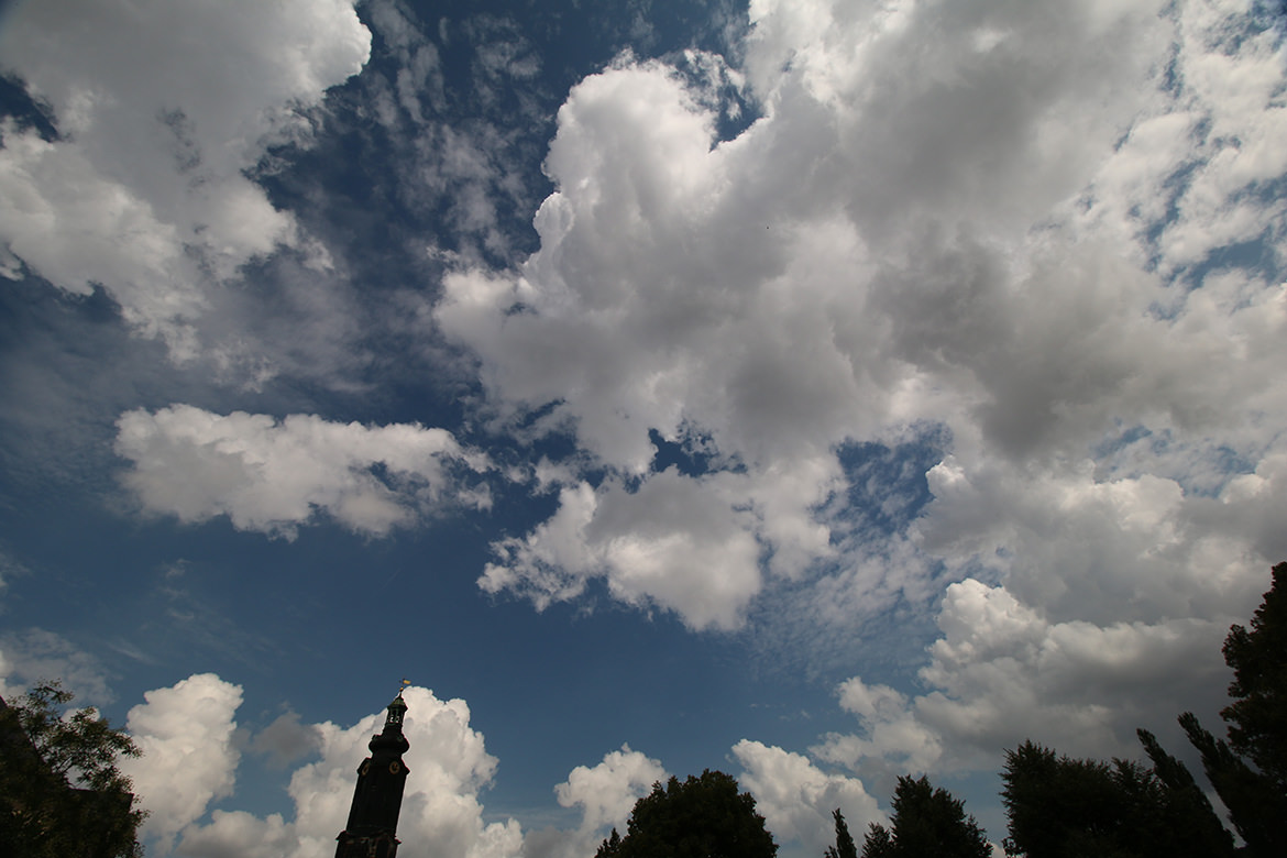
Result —
<svg viewBox="0 0 1287 858"><path fill-rule="evenodd" d="M58 138L0 131L0 241L67 292L102 286L180 359L211 287L247 260L288 246L327 265L245 171L302 140L300 113L369 51L346 0L237 5L60 0L4 28L5 71Z"/></svg>

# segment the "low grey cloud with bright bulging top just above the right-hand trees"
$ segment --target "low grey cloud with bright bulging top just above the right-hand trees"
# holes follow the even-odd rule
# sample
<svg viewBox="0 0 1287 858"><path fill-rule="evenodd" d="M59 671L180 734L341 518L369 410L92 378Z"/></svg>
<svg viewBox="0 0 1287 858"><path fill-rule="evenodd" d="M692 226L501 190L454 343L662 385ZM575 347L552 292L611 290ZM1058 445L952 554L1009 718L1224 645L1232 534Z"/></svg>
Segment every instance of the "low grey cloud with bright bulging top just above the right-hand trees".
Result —
<svg viewBox="0 0 1287 858"><path fill-rule="evenodd" d="M1031 738L1063 753L1138 756L1135 729L1167 729L1184 709L1211 709L1224 677L1228 619L1097 625L1049 621L1004 587L974 579L947 589L931 647L909 697L855 677L840 705L861 729L813 749L864 777L995 765L1000 747Z"/></svg>

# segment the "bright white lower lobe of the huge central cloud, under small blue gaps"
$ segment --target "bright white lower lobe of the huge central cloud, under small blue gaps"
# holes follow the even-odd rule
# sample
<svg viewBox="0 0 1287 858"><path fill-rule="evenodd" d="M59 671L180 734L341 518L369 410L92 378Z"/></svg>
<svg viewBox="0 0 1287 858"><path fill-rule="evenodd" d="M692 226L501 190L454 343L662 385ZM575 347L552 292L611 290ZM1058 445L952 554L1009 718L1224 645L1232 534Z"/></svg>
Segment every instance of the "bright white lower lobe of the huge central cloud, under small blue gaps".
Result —
<svg viewBox="0 0 1287 858"><path fill-rule="evenodd" d="M834 463L819 457L795 472L691 479L674 468L638 486L610 479L597 489L564 486L557 512L523 538L493 545L479 585L530 597L538 608L575 598L604 578L614 598L678 614L692 629L735 629L768 567L798 575L830 553L830 531L806 512L830 485Z"/></svg>

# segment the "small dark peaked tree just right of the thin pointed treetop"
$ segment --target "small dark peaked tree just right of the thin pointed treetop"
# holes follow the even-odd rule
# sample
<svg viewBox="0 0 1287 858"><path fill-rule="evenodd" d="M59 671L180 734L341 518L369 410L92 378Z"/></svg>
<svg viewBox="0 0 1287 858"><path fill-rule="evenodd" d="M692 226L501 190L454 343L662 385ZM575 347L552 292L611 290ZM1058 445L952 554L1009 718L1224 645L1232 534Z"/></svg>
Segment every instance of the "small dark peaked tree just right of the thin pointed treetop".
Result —
<svg viewBox="0 0 1287 858"><path fill-rule="evenodd" d="M929 778L903 776L894 787L889 828L871 823L862 858L988 858L992 848L965 804Z"/></svg>

